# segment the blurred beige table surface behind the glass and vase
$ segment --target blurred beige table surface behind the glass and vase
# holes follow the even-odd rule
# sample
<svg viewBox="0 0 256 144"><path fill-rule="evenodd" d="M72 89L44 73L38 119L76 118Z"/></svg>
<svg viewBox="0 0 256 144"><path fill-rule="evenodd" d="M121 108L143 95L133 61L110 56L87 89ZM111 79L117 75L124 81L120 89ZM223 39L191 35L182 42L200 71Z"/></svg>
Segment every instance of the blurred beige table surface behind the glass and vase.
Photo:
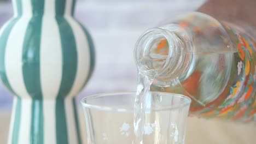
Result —
<svg viewBox="0 0 256 144"><path fill-rule="evenodd" d="M0 112L0 143L6 143L10 121L9 112ZM83 123L82 123L83 124ZM82 128L84 125L82 125ZM256 126L216 120L189 118L186 144L253 144ZM82 131L85 141L85 131Z"/></svg>

